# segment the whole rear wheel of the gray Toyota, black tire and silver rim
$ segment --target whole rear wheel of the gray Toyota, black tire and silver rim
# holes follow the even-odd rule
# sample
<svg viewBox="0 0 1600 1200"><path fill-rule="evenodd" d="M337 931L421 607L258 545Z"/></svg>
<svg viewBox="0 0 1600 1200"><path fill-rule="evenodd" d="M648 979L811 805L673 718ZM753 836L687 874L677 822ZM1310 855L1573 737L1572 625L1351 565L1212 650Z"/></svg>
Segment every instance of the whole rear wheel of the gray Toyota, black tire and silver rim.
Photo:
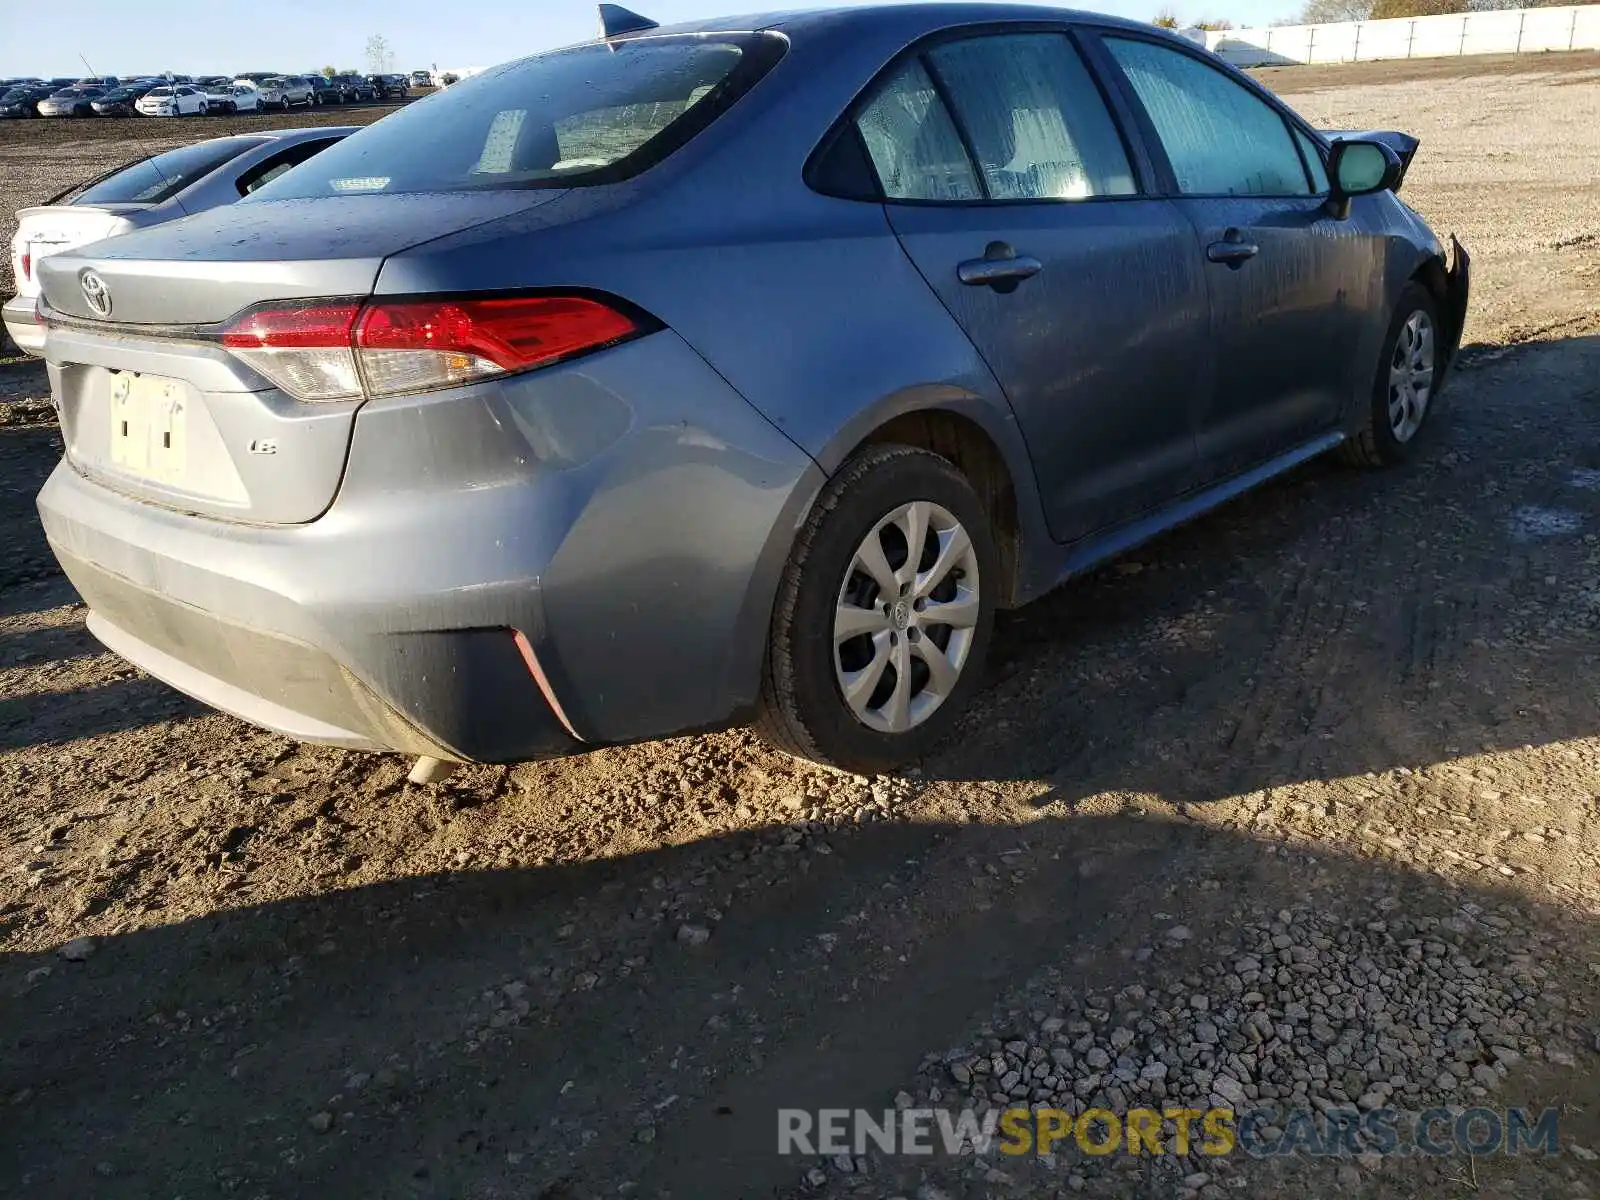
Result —
<svg viewBox="0 0 1600 1200"><path fill-rule="evenodd" d="M758 733L859 774L923 757L982 685L998 584L989 517L954 464L917 446L859 451L822 488L784 566Z"/></svg>

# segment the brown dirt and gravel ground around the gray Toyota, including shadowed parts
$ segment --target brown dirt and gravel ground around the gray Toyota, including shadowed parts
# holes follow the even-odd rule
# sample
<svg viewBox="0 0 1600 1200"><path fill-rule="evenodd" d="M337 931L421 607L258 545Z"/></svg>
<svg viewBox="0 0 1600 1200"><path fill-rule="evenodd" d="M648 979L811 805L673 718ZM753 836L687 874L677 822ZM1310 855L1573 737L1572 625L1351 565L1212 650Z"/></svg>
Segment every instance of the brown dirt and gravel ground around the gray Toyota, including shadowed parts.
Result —
<svg viewBox="0 0 1600 1200"><path fill-rule="evenodd" d="M1270 72L1421 134L1474 251L1427 451L1005 616L893 778L731 731L414 787L210 712L85 632L0 363L0 1192L1600 1195L1600 77L1453 70ZM126 152L11 128L6 208ZM1555 1106L1562 1152L776 1154L1019 1091Z"/></svg>

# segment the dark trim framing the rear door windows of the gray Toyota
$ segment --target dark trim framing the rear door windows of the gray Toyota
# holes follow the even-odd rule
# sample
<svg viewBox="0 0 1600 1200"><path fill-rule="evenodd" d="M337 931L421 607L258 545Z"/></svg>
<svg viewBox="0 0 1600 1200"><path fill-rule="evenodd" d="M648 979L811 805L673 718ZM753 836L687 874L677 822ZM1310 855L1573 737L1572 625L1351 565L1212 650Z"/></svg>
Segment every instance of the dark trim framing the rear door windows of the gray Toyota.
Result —
<svg viewBox="0 0 1600 1200"><path fill-rule="evenodd" d="M938 29L931 34L925 34L915 42L901 48L894 58L880 67L866 86L862 86L845 106L845 110L834 120L827 128L827 133L818 141L816 149L806 157L802 178L806 186L819 192L821 195L829 195L837 200L858 200L878 205L899 205L906 208L1014 208L1018 205L1098 205L1098 203L1114 203L1114 202L1130 202L1130 200L1150 200L1160 195L1157 184L1160 174L1157 171L1155 162L1147 157L1144 136L1133 134L1133 125L1130 118L1133 112L1120 102L1120 96L1112 91L1109 80L1106 78L1104 67L1096 61L1096 56L1090 46L1085 45L1085 38L1080 37L1085 26L1080 22L1067 21L982 21L976 24L950 26L947 29ZM976 42L986 37L1016 37L1026 34L1051 34L1061 37L1067 42L1067 48L1075 51L1078 59L1083 62L1083 69L1088 72L1090 80L1094 83L1094 90L1099 93L1101 102L1106 106L1106 114L1110 117L1112 128L1117 131L1117 138L1122 141L1123 154L1128 158L1128 171L1133 174L1134 190L1130 195L1086 195L1080 198L1067 197L1016 197L1016 198L994 198L989 195L989 181L984 176L982 163L979 163L978 155L973 152L973 144L966 131L966 123L962 120L958 109L950 102L949 88L941 77L938 67L928 58L928 51L947 45L950 42ZM894 77L906 67L910 61L920 61L922 69L933 80L934 93L939 104L944 106L946 115L950 118L950 125L955 128L957 136L962 141L962 150L966 154L966 162L973 168L973 174L978 179L978 187L982 190L982 197L976 200L912 200L902 197L886 195L883 190L883 181L878 179L877 165L872 157L867 155L867 166L872 170L872 178L877 179L877 192L870 197L854 195L838 189L830 189L824 184L821 176L824 174L822 163L827 162L830 152L840 138L856 136L859 139L859 131L856 120L861 110L866 109L878 94L894 80Z"/></svg>

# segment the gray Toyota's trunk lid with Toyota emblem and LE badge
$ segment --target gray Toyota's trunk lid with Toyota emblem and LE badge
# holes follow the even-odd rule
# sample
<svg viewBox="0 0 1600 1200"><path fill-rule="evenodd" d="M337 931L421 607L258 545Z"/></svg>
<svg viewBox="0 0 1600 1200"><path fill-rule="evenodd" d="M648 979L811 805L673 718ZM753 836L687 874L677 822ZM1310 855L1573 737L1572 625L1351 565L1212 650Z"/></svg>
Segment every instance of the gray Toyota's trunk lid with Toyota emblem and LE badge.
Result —
<svg viewBox="0 0 1600 1200"><path fill-rule="evenodd" d="M389 254L557 195L240 203L51 254L38 270L45 357L69 461L198 515L315 520L338 491L362 402L290 398L218 344L216 326L267 301L368 296Z"/></svg>

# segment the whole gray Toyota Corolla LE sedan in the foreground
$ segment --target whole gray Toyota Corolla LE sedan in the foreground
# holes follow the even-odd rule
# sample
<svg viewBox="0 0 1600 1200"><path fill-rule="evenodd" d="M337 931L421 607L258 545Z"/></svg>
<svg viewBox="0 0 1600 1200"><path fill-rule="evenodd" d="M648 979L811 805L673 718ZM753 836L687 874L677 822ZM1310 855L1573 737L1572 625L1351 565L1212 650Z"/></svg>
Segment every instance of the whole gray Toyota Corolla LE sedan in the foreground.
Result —
<svg viewBox="0 0 1600 1200"><path fill-rule="evenodd" d="M107 646L422 778L750 720L874 771L997 608L1426 435L1414 141L1085 13L603 21L40 264Z"/></svg>

